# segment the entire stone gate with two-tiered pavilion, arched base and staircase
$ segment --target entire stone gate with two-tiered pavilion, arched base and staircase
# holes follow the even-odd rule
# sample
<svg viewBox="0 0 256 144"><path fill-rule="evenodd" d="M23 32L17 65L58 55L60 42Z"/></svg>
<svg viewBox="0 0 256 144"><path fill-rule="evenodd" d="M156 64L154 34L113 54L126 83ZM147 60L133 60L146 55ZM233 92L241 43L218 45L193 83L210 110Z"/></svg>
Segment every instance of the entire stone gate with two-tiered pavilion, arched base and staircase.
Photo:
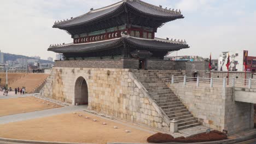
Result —
<svg viewBox="0 0 256 144"><path fill-rule="evenodd" d="M189 46L185 40L155 37L164 23L183 18L180 10L124 0L55 22L53 27L67 31L73 43L49 46L64 60L55 61L41 97L88 104L88 109L166 131L205 124L207 119L195 117L167 85L171 75L184 75L179 70L184 64L164 56ZM172 119L176 129L170 129Z"/></svg>

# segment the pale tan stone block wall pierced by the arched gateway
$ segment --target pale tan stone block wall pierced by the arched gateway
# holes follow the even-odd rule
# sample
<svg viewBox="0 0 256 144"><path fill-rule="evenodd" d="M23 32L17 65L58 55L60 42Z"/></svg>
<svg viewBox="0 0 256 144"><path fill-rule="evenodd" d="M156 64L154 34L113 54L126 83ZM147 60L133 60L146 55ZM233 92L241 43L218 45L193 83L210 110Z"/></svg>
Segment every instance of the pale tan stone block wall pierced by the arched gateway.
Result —
<svg viewBox="0 0 256 144"><path fill-rule="evenodd" d="M74 104L75 81L81 76L88 85L88 109L170 130L170 120L129 69L55 67L40 95Z"/></svg>

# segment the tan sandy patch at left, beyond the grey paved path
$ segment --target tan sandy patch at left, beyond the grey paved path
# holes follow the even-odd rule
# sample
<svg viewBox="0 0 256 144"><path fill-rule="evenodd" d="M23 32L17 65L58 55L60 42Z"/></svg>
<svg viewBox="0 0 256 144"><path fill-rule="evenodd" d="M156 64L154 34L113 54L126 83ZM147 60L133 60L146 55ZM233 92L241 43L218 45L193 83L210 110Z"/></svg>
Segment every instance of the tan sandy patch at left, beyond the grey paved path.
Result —
<svg viewBox="0 0 256 144"><path fill-rule="evenodd" d="M0 99L0 117L61 107L49 101L44 101L44 103L43 101L35 97Z"/></svg>

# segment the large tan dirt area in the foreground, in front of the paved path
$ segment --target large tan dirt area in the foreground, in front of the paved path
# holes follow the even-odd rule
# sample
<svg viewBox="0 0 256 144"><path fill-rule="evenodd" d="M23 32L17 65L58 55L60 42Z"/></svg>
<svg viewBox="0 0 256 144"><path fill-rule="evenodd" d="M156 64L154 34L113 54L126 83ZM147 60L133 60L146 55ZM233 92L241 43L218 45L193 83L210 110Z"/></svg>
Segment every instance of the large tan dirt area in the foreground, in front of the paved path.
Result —
<svg viewBox="0 0 256 144"><path fill-rule="evenodd" d="M83 116L78 116L79 114ZM85 116L89 118L85 118ZM97 119L97 121L94 122L93 119ZM103 122L107 125L103 125ZM118 129L114 129L114 126ZM131 133L126 133L125 130L130 130ZM152 133L148 131L132 128L85 112L67 113L0 125L0 137L21 140L146 143L147 137L150 135Z"/></svg>

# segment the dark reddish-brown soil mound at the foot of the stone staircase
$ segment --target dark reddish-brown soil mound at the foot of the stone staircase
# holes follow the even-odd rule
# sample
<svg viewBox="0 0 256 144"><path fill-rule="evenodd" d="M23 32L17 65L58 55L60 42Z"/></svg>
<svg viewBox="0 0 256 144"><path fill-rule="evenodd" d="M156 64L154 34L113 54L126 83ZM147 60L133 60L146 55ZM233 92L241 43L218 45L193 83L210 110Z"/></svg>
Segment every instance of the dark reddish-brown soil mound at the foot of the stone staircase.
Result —
<svg viewBox="0 0 256 144"><path fill-rule="evenodd" d="M157 133L150 137L148 137L147 141L152 143L162 143L162 142L185 142L185 143L191 143L191 142L207 142L207 141L219 141L219 140L225 140L228 139L226 135L221 133L220 131L213 130L210 133L201 133L197 134L191 137L177 137L172 138L171 135L168 134L161 134Z"/></svg>

